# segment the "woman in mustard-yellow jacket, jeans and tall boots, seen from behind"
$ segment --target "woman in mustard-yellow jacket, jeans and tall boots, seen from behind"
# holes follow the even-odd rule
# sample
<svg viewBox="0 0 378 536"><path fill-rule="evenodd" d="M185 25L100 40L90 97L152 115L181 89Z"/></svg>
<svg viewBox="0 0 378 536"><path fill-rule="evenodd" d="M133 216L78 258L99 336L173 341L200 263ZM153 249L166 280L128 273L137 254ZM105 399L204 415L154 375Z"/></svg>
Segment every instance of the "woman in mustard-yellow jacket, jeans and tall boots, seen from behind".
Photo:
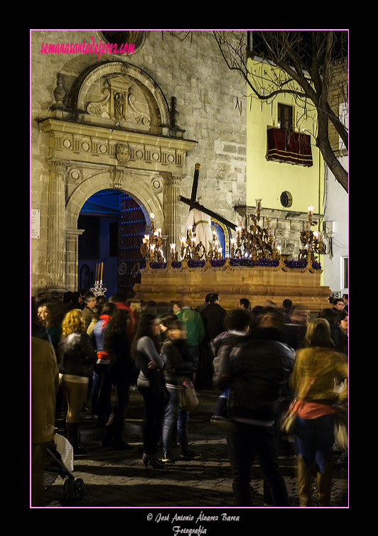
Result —
<svg viewBox="0 0 378 536"><path fill-rule="evenodd" d="M318 479L318 505L329 506L332 485L332 447L335 415L338 413L335 380L347 378L347 358L335 351L330 324L324 318L311 320L296 352L289 378L296 397L296 450L298 455L299 505L311 506L311 468Z"/></svg>

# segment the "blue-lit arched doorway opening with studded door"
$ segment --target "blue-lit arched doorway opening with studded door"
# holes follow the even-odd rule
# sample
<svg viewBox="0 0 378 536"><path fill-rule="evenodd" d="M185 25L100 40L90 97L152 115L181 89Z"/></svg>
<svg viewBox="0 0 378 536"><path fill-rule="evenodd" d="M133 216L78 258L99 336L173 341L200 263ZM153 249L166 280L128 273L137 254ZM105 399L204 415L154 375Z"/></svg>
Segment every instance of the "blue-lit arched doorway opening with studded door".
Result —
<svg viewBox="0 0 378 536"><path fill-rule="evenodd" d="M92 195L82 206L77 226L84 233L78 240L78 273L85 266L90 275L88 287L95 284L101 263L107 298L116 292L126 300L134 297L133 287L140 282L143 266L140 245L146 232L144 211L127 192L106 189ZM82 285L82 277L78 278Z"/></svg>

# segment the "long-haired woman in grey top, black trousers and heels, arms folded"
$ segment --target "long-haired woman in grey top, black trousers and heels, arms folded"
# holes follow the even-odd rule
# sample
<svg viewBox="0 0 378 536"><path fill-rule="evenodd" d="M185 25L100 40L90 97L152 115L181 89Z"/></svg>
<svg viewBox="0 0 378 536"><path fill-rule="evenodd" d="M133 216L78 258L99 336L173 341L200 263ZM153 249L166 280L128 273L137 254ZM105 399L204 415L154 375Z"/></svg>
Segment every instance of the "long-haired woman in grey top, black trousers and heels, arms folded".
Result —
<svg viewBox="0 0 378 536"><path fill-rule="evenodd" d="M131 345L131 357L139 376L136 385L144 398L144 423L142 429L144 466L150 464L154 469L161 469L163 464L157 459L158 440L161 437L163 421L162 370L163 358L160 355L158 318L145 314L139 320L134 341Z"/></svg>

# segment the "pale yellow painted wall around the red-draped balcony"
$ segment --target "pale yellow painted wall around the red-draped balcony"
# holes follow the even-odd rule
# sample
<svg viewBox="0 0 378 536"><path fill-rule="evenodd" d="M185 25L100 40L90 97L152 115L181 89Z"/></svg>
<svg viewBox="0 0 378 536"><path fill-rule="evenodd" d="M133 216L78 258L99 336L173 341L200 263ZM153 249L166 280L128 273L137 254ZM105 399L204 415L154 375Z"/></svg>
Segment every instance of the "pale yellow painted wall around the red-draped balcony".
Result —
<svg viewBox="0 0 378 536"><path fill-rule="evenodd" d="M257 70L264 78L264 70L272 69L267 64L252 62L249 67ZM261 70L262 69L262 70ZM262 84L268 84L261 78ZM251 92L251 89L248 89ZM313 205L315 214L323 214L323 180L324 165L320 152L315 147L315 137L311 136L311 152L313 165L305 168L302 165L268 162L266 156L266 130L273 126L273 118L278 118L278 104L293 106L293 123L301 116L303 110L289 94L279 94L272 103L267 104L254 97L247 100L247 206L254 207L255 199L261 199L261 207L284 209L280 203L281 192L288 191L293 197L293 204L288 210L307 212L307 206ZM310 115L315 115L315 110ZM306 133L315 135L315 123L309 117L301 119L300 128Z"/></svg>

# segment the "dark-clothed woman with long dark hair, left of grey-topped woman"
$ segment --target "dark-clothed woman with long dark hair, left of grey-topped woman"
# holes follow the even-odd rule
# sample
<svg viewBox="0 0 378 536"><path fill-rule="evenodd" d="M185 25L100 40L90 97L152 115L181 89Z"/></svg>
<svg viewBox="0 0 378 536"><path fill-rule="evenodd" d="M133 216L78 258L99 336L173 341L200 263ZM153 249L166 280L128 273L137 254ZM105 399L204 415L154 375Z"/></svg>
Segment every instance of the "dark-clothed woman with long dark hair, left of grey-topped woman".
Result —
<svg viewBox="0 0 378 536"><path fill-rule="evenodd" d="M129 388L133 379L133 362L130 355L129 311L115 309L104 337L104 351L109 356L109 381L114 385L117 403L105 426L103 447L113 447L117 450L130 449L124 441L124 421L129 405Z"/></svg>

